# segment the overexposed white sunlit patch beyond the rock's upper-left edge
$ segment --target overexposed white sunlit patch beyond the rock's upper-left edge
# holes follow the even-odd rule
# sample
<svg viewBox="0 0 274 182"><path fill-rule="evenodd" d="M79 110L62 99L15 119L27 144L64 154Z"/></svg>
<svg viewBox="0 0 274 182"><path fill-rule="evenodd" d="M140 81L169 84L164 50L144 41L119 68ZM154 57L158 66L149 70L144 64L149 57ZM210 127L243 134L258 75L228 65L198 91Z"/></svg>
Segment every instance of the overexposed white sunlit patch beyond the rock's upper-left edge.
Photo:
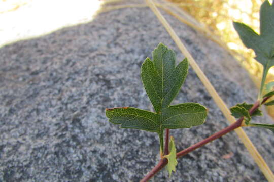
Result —
<svg viewBox="0 0 274 182"><path fill-rule="evenodd" d="M0 47L91 21L98 0L0 0Z"/></svg>

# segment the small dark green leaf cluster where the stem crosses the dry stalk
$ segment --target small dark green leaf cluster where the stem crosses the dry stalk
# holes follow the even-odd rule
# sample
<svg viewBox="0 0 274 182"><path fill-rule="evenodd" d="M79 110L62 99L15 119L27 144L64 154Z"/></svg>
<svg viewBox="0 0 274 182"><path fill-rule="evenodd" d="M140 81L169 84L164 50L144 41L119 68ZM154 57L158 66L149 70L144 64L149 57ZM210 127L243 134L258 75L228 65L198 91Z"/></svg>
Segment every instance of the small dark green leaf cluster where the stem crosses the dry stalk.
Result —
<svg viewBox="0 0 274 182"><path fill-rule="evenodd" d="M249 121L253 116L261 116L262 113L259 109L256 109L251 115L249 114L249 110L252 108L253 104L237 104L236 106L233 106L230 108L231 115L235 118L241 118L244 117L246 124L249 124Z"/></svg>

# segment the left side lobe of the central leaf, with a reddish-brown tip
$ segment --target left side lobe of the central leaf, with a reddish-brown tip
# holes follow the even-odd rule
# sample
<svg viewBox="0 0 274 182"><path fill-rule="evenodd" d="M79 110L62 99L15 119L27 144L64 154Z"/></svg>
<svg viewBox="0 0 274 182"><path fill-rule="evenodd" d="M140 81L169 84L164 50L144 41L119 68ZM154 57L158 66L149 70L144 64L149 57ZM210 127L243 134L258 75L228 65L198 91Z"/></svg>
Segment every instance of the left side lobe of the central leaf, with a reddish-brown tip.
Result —
<svg viewBox="0 0 274 182"><path fill-rule="evenodd" d="M113 124L121 124L121 128L142 129L160 132L160 115L132 107L106 109L106 116Z"/></svg>

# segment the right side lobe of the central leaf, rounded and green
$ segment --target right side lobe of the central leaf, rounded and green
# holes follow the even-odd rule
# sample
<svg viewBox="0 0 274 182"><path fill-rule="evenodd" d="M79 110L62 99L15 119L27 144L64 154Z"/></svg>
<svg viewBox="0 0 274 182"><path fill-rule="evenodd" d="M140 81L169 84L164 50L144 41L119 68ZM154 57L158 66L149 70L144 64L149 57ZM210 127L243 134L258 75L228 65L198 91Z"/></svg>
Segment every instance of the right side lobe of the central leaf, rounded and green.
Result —
<svg viewBox="0 0 274 182"><path fill-rule="evenodd" d="M208 110L198 103L169 106L162 111L162 127L168 129L190 128L204 123Z"/></svg>

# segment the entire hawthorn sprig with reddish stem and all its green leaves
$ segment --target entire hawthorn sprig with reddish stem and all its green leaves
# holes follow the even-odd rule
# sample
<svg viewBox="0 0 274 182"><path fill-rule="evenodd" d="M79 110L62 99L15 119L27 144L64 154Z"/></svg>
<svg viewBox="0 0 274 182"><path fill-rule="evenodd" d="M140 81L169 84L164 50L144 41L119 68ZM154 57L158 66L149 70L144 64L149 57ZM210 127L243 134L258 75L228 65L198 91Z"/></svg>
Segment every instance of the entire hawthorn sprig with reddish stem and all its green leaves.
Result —
<svg viewBox="0 0 274 182"><path fill-rule="evenodd" d="M175 172L177 158L238 127L253 126L270 129L274 132L274 124L250 122L252 117L262 115L259 110L261 105L274 105L274 101L266 103L274 95L274 82L265 84L266 75L270 67L274 66L273 17L274 4L270 5L266 0L260 9L260 35L243 23L233 22L234 28L243 43L247 48L255 51L255 59L264 68L258 100L254 104L242 103L231 107L231 114L235 118L239 118L235 123L178 153L173 136L170 136L169 141L169 129L190 128L203 124L207 118L208 109L198 103L182 103L170 106L187 76L188 61L186 58L176 66L174 51L160 43L152 53L153 59L145 59L141 67L141 79L155 112L133 107L106 109L106 116L109 121L121 125L121 128L142 129L156 132L159 135L160 161L141 181L148 181L165 165L167 165L170 176L172 171ZM263 95L263 92L266 94Z"/></svg>

